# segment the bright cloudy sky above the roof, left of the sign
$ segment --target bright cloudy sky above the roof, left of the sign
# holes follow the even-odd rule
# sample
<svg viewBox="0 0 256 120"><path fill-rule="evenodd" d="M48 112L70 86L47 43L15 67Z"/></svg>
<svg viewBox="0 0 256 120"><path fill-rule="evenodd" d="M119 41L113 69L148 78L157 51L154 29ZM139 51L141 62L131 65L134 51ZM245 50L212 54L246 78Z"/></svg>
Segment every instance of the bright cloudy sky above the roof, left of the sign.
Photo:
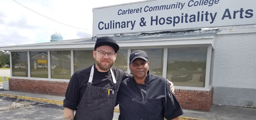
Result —
<svg viewBox="0 0 256 120"><path fill-rule="evenodd" d="M143 0L0 0L0 47L93 37L93 8Z"/></svg>

